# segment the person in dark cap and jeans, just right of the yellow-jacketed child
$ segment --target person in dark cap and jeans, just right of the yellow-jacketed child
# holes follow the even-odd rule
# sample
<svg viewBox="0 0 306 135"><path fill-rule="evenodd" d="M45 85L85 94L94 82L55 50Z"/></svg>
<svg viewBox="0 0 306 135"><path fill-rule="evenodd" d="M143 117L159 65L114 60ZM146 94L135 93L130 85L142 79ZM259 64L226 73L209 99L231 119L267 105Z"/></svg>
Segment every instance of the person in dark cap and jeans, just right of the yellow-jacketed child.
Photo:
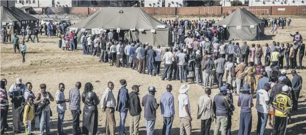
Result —
<svg viewBox="0 0 306 135"><path fill-rule="evenodd" d="M52 115L50 109L50 101L54 101L51 93L46 91L46 84L39 85L41 92L36 95L34 104L38 104L38 108L42 108L40 116L40 135L44 135L46 127L46 134L50 134L50 116Z"/></svg>

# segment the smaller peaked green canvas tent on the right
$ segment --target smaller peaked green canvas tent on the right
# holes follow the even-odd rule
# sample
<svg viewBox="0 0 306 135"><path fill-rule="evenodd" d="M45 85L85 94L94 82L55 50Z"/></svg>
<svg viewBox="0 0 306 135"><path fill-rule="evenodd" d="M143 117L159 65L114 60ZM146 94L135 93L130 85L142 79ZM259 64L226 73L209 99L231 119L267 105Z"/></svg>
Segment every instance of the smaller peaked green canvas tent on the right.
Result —
<svg viewBox="0 0 306 135"><path fill-rule="evenodd" d="M245 8L238 8L213 26L226 26L227 39L255 40L264 35L264 22Z"/></svg>

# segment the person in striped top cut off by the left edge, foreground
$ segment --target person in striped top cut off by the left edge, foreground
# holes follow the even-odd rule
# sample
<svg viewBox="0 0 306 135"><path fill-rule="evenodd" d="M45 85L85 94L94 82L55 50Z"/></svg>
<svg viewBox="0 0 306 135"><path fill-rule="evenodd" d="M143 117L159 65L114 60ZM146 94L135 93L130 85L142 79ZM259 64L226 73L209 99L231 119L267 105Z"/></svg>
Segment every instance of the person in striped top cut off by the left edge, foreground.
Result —
<svg viewBox="0 0 306 135"><path fill-rule="evenodd" d="M5 81L0 82L0 110L1 110L1 123L0 123L0 134L4 134L4 128L7 128L7 114L8 114L8 97L5 89Z"/></svg>

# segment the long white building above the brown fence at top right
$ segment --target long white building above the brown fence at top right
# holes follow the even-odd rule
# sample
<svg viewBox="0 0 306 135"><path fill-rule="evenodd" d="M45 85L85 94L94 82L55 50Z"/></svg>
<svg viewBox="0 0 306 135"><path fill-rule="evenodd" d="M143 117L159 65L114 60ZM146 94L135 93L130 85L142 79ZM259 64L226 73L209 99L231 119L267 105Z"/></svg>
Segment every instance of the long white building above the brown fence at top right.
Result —
<svg viewBox="0 0 306 135"><path fill-rule="evenodd" d="M222 6L231 6L230 1L222 0ZM306 5L306 0L240 0L245 6L281 6L281 5Z"/></svg>

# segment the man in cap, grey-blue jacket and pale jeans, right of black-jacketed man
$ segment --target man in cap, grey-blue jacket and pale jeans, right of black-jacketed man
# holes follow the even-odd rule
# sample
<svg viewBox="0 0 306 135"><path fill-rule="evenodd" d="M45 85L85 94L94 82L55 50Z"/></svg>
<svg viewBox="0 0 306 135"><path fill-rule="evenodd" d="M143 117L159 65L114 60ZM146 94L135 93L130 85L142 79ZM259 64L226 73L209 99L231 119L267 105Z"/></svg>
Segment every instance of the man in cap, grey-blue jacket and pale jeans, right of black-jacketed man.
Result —
<svg viewBox="0 0 306 135"><path fill-rule="evenodd" d="M156 120L156 110L159 107L159 104L156 102L155 96L155 87L148 87L149 94L145 95L142 98L142 106L144 107L144 118L147 127L147 135L154 135L154 127Z"/></svg>

